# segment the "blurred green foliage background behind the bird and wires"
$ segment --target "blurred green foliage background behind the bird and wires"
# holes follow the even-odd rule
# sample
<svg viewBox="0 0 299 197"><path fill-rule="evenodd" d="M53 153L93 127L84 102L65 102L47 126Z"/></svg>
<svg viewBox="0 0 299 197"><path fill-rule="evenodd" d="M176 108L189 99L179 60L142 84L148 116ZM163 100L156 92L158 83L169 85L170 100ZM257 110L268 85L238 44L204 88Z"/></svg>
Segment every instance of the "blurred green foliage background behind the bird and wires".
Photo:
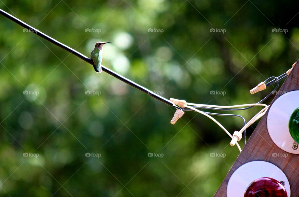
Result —
<svg viewBox="0 0 299 197"><path fill-rule="evenodd" d="M249 89L297 60L297 7L270 0L0 2L87 56L97 41L113 41L103 65L165 98L220 105L259 101L269 90ZM171 125L173 108L0 17L1 196L216 192L238 155L221 128L194 112ZM238 114L249 120L259 109ZM216 119L231 133L242 126L239 118Z"/></svg>

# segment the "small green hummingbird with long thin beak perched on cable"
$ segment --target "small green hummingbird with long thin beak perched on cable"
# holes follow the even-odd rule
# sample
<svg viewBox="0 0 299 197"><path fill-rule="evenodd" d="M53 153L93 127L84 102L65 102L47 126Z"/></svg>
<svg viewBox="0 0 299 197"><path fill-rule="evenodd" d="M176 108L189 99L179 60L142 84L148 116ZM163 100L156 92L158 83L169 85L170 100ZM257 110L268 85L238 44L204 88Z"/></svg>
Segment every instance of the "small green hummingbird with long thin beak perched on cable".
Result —
<svg viewBox="0 0 299 197"><path fill-rule="evenodd" d="M97 42L90 54L90 59L96 72L102 72L103 45L107 43L111 42Z"/></svg>

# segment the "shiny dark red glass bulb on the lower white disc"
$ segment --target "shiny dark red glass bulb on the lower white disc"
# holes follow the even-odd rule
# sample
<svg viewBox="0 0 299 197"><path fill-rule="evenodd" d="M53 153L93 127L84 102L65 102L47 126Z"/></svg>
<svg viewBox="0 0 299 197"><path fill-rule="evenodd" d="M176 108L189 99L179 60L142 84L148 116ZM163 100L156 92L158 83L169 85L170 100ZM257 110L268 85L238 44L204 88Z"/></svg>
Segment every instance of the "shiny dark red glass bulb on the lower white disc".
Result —
<svg viewBox="0 0 299 197"><path fill-rule="evenodd" d="M287 190L279 181L263 177L250 183L244 197L287 197Z"/></svg>

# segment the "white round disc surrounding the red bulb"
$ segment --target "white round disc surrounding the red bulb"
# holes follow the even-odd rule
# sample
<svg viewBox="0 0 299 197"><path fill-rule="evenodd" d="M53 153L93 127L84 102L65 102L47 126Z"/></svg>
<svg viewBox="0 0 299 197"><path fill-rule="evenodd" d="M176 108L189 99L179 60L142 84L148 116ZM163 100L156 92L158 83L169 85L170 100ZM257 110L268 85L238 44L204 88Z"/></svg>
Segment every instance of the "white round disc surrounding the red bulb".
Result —
<svg viewBox="0 0 299 197"><path fill-rule="evenodd" d="M262 177L284 181L287 196L291 196L291 188L287 176L277 166L264 161L253 161L240 166L231 175L226 188L227 197L244 197L249 184L255 179Z"/></svg>

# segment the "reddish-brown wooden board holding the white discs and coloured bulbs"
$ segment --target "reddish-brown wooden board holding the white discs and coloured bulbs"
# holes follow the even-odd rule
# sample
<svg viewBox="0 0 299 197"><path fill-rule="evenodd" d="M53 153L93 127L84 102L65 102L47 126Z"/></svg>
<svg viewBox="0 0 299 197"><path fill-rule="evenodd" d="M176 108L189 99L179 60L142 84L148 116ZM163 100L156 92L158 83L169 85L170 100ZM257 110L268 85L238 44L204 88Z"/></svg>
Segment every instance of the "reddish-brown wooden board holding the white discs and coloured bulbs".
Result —
<svg viewBox="0 0 299 197"><path fill-rule="evenodd" d="M299 60L298 60L299 61ZM287 77L280 92L299 90L299 63L296 63L292 72ZM273 101L275 101L281 94L277 94ZM299 99L299 98L298 98ZM272 101L272 103L273 103ZM271 105L272 105L271 103ZM234 165L231 167L228 174L225 176L224 181L221 183L215 197L226 196L226 187L232 173L244 163L250 161L267 161L278 166L287 176L291 186L291 197L299 195L299 154L288 153L287 158L272 157L272 153L287 153L278 148L271 140L267 130L267 115L268 112L262 117L261 121L255 128L250 136L243 151L236 159Z"/></svg>

